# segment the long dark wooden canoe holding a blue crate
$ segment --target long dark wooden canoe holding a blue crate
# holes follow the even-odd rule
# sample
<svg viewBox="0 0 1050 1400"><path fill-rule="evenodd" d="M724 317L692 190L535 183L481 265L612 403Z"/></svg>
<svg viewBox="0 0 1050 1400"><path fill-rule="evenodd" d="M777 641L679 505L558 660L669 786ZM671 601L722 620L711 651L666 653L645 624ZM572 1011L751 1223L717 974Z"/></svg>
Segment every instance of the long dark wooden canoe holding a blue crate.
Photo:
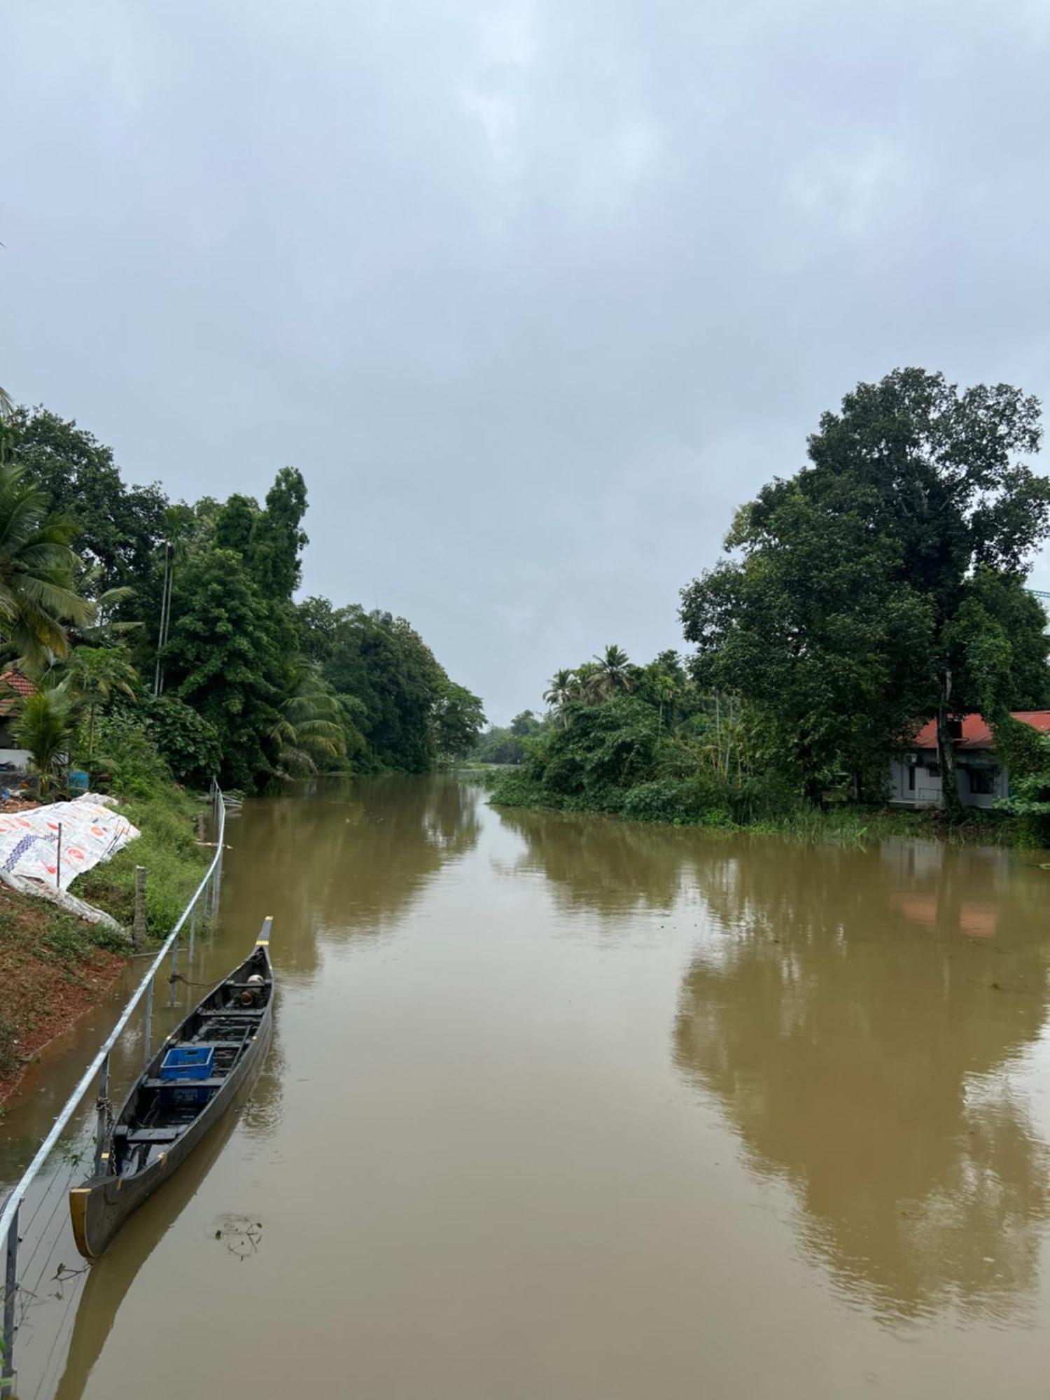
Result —
<svg viewBox="0 0 1050 1400"><path fill-rule="evenodd" d="M98 1259L258 1074L273 1029L270 925L267 918L249 956L150 1060L102 1144L99 1175L70 1191L73 1236L84 1259ZM172 1063L181 1058L206 1063L207 1075L181 1070Z"/></svg>

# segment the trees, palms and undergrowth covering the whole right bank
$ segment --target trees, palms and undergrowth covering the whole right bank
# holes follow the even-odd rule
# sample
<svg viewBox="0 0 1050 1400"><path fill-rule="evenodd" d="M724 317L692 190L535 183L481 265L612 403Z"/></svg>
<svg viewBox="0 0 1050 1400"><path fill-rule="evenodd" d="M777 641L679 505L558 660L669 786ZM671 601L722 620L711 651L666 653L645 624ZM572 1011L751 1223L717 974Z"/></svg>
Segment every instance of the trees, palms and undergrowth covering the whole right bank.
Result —
<svg viewBox="0 0 1050 1400"><path fill-rule="evenodd" d="M826 826L829 809L841 825L851 805L869 823L890 759L932 717L958 825L952 725L979 710L1043 839L1050 753L1009 720L1050 703L1046 615L1025 591L1050 529L1050 479L1022 461L1039 416L1007 385L959 392L923 370L858 385L808 465L741 507L727 560L682 589L692 654L637 666L608 647L557 672L493 799L777 829Z"/></svg>

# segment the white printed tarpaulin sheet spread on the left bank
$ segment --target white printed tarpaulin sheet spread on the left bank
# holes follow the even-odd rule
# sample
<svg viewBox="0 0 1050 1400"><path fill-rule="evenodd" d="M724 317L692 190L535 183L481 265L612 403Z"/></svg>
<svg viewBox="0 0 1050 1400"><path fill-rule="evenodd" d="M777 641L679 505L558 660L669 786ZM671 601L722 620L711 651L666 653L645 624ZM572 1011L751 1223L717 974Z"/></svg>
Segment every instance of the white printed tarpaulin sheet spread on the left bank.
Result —
<svg viewBox="0 0 1050 1400"><path fill-rule="evenodd" d="M27 893L34 892L29 882L67 890L77 875L108 861L137 836L137 827L97 792L28 812L0 812L0 871L8 885Z"/></svg>

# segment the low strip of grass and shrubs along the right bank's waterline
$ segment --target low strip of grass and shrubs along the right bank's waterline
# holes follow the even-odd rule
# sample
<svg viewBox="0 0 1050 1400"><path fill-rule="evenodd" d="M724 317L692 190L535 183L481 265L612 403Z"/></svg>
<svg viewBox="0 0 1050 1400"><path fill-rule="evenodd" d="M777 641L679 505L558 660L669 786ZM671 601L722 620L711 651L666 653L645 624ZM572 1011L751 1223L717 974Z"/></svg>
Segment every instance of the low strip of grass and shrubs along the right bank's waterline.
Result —
<svg viewBox="0 0 1050 1400"><path fill-rule="evenodd" d="M973 843L983 846L1032 846L1023 823L1000 812L970 809L966 819L949 825L941 812L895 811L881 806L834 804L827 808L795 806L776 812L757 809L734 816L725 808L690 805L687 783L640 784L636 788L606 788L592 794L552 792L517 769L465 770L463 777L482 783L493 806L547 808L557 812L591 812L619 820L652 822L664 826L694 826L710 832L752 832L759 836L787 836L802 841L834 841L867 846L886 837L910 837ZM672 791L673 788L673 791Z"/></svg>

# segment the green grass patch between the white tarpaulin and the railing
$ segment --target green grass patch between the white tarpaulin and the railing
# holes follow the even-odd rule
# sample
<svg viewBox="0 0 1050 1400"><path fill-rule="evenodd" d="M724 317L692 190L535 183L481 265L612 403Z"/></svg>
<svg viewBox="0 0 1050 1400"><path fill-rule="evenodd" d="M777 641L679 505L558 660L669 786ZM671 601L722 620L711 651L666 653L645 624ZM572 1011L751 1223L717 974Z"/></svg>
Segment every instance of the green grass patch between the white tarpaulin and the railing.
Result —
<svg viewBox="0 0 1050 1400"><path fill-rule="evenodd" d="M120 801L120 813L139 827L137 841L104 865L83 875L73 893L132 927L134 918L134 868L146 867L146 931L160 942L186 907L200 883L213 850L196 844L200 804L174 784L150 797Z"/></svg>

